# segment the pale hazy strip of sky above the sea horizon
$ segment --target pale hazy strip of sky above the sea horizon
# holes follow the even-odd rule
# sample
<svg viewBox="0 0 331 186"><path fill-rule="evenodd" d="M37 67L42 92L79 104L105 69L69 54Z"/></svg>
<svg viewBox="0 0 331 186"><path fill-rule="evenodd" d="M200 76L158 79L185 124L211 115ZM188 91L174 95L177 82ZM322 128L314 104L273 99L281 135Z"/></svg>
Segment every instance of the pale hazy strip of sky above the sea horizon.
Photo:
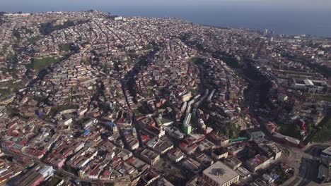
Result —
<svg viewBox="0 0 331 186"><path fill-rule="evenodd" d="M331 0L0 0L0 11L57 11L175 6L240 6L330 9Z"/></svg>

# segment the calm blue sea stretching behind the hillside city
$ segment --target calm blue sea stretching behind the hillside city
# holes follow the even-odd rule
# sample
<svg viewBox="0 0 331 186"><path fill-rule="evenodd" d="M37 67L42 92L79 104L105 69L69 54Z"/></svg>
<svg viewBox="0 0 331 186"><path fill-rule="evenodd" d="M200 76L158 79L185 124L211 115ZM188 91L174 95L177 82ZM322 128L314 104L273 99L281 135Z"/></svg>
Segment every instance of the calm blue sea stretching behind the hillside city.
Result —
<svg viewBox="0 0 331 186"><path fill-rule="evenodd" d="M2 0L1 0L2 1ZM18 1L18 0L16 0ZM43 0L45 2L45 0ZM48 0L47 0L48 1ZM74 0L71 0L72 2ZM139 0L137 0L139 1ZM193 0L192 0L193 1ZM69 1L67 1L69 2ZM331 7L329 8L296 8L295 6L244 6L240 4L169 4L153 6L149 4L130 6L112 4L41 4L37 6L11 6L4 3L0 11L6 12L42 12L42 11L84 11L96 9L120 16L178 17L202 25L220 27L250 28L253 30L273 30L277 34L315 35L331 37ZM187 1L190 2L190 1Z"/></svg>

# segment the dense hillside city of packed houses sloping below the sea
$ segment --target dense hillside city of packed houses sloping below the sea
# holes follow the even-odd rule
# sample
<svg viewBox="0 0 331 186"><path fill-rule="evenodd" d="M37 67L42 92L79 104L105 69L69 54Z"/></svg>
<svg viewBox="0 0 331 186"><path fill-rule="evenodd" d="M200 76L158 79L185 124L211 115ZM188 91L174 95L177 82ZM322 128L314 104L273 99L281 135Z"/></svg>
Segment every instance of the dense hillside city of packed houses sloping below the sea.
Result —
<svg viewBox="0 0 331 186"><path fill-rule="evenodd" d="M331 39L0 13L0 184L330 185Z"/></svg>

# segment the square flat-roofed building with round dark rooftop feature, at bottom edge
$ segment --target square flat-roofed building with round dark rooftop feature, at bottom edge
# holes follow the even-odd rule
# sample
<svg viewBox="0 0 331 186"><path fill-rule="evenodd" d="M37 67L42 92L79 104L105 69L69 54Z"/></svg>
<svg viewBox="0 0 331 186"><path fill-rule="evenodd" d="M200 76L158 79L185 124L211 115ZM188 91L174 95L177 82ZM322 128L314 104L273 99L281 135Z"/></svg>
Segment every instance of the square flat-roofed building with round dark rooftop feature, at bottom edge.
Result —
<svg viewBox="0 0 331 186"><path fill-rule="evenodd" d="M236 171L228 168L221 161L217 161L212 166L204 170L202 177L211 185L228 186L238 182L239 175Z"/></svg>

